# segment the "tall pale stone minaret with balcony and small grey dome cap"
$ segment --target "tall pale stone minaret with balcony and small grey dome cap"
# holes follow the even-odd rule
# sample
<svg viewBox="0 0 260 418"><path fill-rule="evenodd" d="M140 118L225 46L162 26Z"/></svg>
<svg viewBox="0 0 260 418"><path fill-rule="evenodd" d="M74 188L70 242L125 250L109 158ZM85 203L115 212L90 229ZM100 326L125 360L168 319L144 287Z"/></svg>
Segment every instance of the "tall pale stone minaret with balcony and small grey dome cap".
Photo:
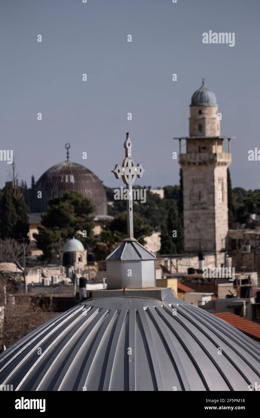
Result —
<svg viewBox="0 0 260 418"><path fill-rule="evenodd" d="M183 173L185 252L220 251L226 247L230 138L220 136L216 96L203 81L192 95L189 137L174 138L179 140ZM186 140L186 153L181 153L182 139ZM228 152L223 148L225 139Z"/></svg>

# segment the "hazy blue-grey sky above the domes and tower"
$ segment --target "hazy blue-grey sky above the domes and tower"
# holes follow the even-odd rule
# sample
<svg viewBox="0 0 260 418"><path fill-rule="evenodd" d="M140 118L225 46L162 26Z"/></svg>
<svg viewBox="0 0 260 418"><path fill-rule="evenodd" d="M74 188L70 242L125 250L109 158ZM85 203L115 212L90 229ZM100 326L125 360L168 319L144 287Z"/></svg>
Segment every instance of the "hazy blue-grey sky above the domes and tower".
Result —
<svg viewBox="0 0 260 418"><path fill-rule="evenodd" d="M32 174L38 180L66 160L70 143L71 161L115 187L123 183L111 170L129 132L134 162L146 169L136 184L178 184L173 137L188 135L190 100L204 77L221 135L236 137L232 186L260 189L260 161L248 161L260 149L259 19L259 0L2 0L0 149L13 150L30 185ZM235 32L235 46L202 43L210 30ZM10 171L0 161L0 187Z"/></svg>

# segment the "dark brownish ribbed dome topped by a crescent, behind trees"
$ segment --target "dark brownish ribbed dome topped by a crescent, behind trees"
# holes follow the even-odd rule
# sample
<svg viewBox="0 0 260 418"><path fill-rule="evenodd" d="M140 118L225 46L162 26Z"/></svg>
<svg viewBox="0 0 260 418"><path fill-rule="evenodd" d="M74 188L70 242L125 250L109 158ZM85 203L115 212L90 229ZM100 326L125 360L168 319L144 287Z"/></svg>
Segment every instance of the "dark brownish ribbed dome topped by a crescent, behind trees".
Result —
<svg viewBox="0 0 260 418"><path fill-rule="evenodd" d="M106 192L98 177L80 164L66 161L49 168L35 184L31 201L31 212L46 212L48 199L62 196L65 191L75 190L91 199L95 205L96 216L106 216ZM37 192L42 192L38 199Z"/></svg>

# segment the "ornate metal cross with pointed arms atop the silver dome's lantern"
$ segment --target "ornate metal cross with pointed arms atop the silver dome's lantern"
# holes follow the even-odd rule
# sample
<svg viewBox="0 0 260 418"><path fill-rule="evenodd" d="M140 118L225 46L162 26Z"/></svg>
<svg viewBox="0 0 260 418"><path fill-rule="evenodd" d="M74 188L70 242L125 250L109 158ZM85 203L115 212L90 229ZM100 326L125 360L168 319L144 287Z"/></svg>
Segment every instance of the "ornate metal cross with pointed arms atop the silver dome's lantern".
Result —
<svg viewBox="0 0 260 418"><path fill-rule="evenodd" d="M124 184L126 184L129 190L129 199L127 199L127 240L136 241L134 239L134 229L133 229L133 189L132 184L136 180L136 176L141 178L144 173L144 168L141 164L135 166L134 160L131 155L132 142L129 138L129 132L126 133L126 140L124 142L124 148L126 150L126 157L123 160L122 167L119 164L115 165L114 170L111 170L116 178L122 176Z"/></svg>

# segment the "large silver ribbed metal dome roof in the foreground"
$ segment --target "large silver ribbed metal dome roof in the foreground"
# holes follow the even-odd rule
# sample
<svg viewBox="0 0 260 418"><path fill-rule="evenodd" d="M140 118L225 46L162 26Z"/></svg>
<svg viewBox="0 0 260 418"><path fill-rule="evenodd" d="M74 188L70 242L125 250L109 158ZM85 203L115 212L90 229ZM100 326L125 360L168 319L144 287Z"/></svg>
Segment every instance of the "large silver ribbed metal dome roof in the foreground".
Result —
<svg viewBox="0 0 260 418"><path fill-rule="evenodd" d="M256 342L177 298L85 301L0 355L14 390L247 391L259 377Z"/></svg>

